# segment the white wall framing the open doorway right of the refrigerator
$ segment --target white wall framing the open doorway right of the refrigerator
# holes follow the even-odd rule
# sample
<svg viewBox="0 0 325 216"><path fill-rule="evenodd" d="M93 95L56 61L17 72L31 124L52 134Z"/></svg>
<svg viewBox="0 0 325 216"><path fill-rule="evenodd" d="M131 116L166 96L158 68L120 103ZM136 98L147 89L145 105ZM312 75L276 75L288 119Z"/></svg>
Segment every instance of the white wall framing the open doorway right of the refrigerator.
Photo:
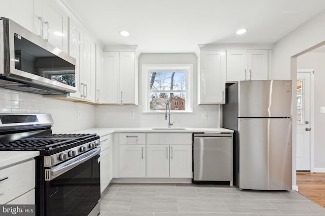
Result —
<svg viewBox="0 0 325 216"><path fill-rule="evenodd" d="M273 71L271 79L297 80L297 56L325 41L325 11L301 25L275 43L273 48ZM291 58L294 57L294 58ZM294 82L295 83L295 82ZM293 107L296 106L296 87L293 87ZM293 109L296 122L296 109ZM296 124L293 124L293 186L296 186Z"/></svg>

